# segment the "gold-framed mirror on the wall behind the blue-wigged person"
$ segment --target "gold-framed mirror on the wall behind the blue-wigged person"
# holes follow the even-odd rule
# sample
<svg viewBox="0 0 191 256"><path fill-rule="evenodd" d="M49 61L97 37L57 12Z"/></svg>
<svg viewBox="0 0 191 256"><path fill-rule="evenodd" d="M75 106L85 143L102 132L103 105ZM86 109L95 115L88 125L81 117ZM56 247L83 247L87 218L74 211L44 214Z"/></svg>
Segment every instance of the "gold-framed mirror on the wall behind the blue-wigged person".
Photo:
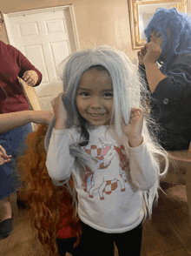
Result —
<svg viewBox="0 0 191 256"><path fill-rule="evenodd" d="M155 10L175 7L178 11L188 11L187 0L128 0L130 27L131 27L131 41L132 49L138 50L142 45L146 44L146 37L144 36L144 29L149 23L151 17L155 14Z"/></svg>

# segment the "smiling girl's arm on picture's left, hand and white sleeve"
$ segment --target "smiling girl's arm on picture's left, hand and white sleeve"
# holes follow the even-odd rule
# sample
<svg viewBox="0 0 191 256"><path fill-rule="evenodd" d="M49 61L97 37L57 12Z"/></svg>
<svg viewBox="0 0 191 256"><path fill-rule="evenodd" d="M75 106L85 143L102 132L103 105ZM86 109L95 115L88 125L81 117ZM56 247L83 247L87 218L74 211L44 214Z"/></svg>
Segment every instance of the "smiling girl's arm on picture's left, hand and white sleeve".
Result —
<svg viewBox="0 0 191 256"><path fill-rule="evenodd" d="M64 93L60 93L52 100L56 121L49 139L46 159L49 177L55 185L62 185L60 181L69 178L75 161L69 154L69 145L74 144L74 136L66 129L67 111L63 105L63 95Z"/></svg>

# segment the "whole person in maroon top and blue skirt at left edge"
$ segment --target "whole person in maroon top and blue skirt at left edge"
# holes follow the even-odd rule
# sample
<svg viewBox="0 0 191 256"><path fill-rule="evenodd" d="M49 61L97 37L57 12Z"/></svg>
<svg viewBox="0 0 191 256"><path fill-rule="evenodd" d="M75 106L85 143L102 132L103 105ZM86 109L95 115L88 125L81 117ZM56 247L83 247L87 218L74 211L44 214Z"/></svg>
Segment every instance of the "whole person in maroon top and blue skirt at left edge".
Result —
<svg viewBox="0 0 191 256"><path fill-rule="evenodd" d="M3 17L0 12L0 32L3 29ZM0 41L0 114L28 111L27 98L18 78L22 77L29 86L41 83L42 74L15 47ZM0 124L1 125L1 124ZM31 124L0 133L0 145L11 160L0 165L0 237L6 238L11 232L10 194L16 192L19 182L16 175L16 154L24 148L27 134L32 131Z"/></svg>

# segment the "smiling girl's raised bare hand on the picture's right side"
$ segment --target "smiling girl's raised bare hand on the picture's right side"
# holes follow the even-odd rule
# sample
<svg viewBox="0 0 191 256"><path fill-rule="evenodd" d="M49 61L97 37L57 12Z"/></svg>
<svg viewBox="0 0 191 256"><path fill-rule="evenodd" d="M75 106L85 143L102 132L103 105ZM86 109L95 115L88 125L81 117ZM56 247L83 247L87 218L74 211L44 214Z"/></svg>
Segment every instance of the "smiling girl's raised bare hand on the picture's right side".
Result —
<svg viewBox="0 0 191 256"><path fill-rule="evenodd" d="M142 144L142 125L144 112L140 108L132 108L129 124L123 128L123 132L128 137L128 144L137 147Z"/></svg>

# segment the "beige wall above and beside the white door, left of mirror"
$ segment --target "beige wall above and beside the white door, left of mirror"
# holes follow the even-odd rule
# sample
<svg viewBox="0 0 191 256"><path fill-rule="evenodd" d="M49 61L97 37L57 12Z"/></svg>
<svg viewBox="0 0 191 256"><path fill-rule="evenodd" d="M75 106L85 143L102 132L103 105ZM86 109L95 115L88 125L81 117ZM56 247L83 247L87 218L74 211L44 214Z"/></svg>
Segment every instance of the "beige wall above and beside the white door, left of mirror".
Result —
<svg viewBox="0 0 191 256"><path fill-rule="evenodd" d="M109 44L125 51L130 59L136 57L131 48L127 0L5 0L0 10L10 13L67 4L74 6L81 50ZM4 30L0 39L8 43Z"/></svg>

